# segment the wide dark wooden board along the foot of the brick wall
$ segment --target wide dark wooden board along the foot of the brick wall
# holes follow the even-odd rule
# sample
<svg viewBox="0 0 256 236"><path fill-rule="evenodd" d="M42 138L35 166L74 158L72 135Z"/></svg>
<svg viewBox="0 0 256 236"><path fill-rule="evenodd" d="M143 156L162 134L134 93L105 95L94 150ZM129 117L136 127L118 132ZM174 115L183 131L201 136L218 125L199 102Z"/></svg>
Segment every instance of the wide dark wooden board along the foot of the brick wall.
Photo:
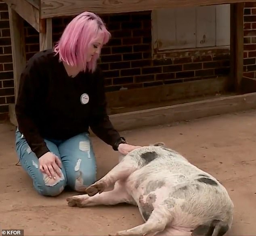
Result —
<svg viewBox="0 0 256 236"><path fill-rule="evenodd" d="M228 77L200 79L184 83L165 84L132 90L107 92L109 109L134 107L155 102L164 102L198 96L214 95L226 90Z"/></svg>

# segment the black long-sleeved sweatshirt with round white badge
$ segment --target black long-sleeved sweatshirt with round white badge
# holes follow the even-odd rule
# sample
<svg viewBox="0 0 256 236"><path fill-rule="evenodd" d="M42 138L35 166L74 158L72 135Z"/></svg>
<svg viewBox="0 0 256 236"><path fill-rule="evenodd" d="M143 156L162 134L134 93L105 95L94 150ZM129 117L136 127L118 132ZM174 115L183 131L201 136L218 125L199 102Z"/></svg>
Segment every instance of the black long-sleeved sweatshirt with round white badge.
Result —
<svg viewBox="0 0 256 236"><path fill-rule="evenodd" d="M113 147L120 135L109 121L106 105L99 68L69 77L59 56L49 49L29 59L21 74L15 112L19 131L39 158L49 151L44 138L66 140L89 127Z"/></svg>

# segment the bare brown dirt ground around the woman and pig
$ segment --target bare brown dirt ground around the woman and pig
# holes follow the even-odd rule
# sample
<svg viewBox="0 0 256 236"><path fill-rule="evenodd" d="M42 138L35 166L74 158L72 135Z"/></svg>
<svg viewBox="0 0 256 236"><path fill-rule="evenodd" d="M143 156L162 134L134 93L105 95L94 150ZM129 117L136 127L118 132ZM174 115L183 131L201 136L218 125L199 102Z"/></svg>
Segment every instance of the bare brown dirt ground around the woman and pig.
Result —
<svg viewBox="0 0 256 236"><path fill-rule="evenodd" d="M227 188L235 205L227 235L256 233L256 111L208 117L172 125L121 132L128 142L147 145L164 141ZM17 163L15 127L0 124L0 228L24 229L25 235L108 235L141 224L130 205L68 207L63 192L39 196ZM98 178L118 162L118 153L92 137Z"/></svg>

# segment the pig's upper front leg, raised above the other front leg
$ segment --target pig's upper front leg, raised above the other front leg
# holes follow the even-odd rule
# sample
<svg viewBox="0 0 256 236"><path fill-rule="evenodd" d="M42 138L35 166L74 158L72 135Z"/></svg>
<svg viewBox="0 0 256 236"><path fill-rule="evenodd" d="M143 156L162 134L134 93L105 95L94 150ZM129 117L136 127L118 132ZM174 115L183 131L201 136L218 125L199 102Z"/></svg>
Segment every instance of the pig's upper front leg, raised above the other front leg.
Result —
<svg viewBox="0 0 256 236"><path fill-rule="evenodd" d="M102 193L111 184L114 184L117 180L127 178L132 172L138 169L139 162L132 155L126 155L124 159L118 163L113 169L111 169L103 178L95 182L86 188L86 193L89 196Z"/></svg>

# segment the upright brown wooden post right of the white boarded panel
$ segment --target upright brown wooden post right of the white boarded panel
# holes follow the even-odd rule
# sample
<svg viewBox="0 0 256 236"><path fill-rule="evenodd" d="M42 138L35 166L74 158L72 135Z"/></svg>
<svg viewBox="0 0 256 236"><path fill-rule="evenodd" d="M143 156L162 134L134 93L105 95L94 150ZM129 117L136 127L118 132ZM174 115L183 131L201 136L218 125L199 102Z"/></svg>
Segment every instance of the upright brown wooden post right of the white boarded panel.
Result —
<svg viewBox="0 0 256 236"><path fill-rule="evenodd" d="M230 84L237 92L241 92L241 81L243 78L243 8L244 3L233 3L230 6Z"/></svg>

